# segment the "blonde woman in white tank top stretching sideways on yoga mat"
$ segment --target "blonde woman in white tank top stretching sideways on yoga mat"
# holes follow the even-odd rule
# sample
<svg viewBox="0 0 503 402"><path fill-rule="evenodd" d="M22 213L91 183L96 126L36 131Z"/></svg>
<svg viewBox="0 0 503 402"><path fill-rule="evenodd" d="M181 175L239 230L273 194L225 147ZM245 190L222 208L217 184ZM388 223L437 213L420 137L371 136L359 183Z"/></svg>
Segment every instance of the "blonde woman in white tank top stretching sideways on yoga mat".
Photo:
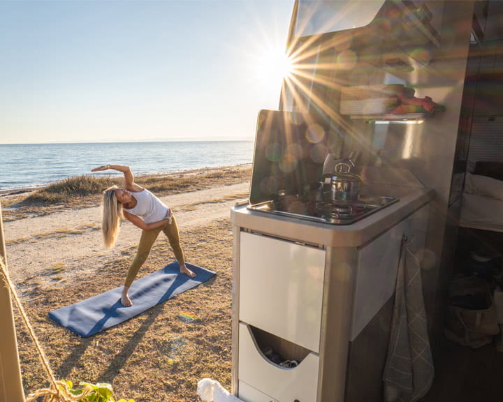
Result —
<svg viewBox="0 0 503 402"><path fill-rule="evenodd" d="M103 165L94 168L92 172L108 169L124 173L124 188L112 186L103 192L103 223L101 229L103 230L103 240L106 248L112 248L115 245L119 234L121 215L142 229L138 251L133 262L131 262L126 281L124 281L124 290L122 290L121 303L123 306L129 307L133 305L129 298L131 283L133 283L140 267L147 260L154 241L161 230L166 234L170 246L173 248L175 258L178 265L180 265L180 273L191 278L194 278L196 274L185 265L178 226L173 211L150 191L135 183L129 166Z"/></svg>

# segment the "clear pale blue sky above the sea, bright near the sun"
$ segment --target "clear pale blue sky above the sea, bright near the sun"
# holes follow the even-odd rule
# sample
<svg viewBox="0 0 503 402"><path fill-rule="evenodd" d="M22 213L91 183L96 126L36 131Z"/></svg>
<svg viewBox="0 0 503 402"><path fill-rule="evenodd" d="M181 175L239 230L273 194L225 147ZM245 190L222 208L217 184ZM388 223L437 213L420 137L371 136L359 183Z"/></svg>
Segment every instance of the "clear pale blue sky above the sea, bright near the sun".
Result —
<svg viewBox="0 0 503 402"><path fill-rule="evenodd" d="M0 143L253 139L293 0L0 1Z"/></svg>

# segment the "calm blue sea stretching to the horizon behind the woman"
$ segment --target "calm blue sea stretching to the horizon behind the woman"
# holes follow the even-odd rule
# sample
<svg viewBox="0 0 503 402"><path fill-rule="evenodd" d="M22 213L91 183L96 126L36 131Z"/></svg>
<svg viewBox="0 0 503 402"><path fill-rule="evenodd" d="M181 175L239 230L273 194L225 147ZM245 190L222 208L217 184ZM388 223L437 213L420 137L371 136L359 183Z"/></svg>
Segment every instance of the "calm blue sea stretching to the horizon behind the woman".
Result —
<svg viewBox="0 0 503 402"><path fill-rule="evenodd" d="M243 165L252 162L253 149L253 141L0 144L0 193L84 174L121 174L91 172L108 163L129 165L136 175Z"/></svg>

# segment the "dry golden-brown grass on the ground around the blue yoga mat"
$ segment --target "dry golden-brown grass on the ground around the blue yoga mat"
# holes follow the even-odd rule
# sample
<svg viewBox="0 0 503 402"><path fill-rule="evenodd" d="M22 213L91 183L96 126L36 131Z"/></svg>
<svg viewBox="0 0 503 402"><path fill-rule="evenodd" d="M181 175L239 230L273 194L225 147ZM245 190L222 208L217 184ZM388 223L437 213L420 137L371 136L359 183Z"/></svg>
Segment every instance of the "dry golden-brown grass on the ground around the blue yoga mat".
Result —
<svg viewBox="0 0 503 402"><path fill-rule="evenodd" d="M249 176L249 169L228 170L215 174L214 179L207 177L204 185L238 183L249 180ZM156 192L162 194L162 191ZM22 214L17 211L19 216ZM59 234L64 233L53 235ZM231 389L231 223L224 219L182 230L180 238L187 261L210 269L216 275L194 289L89 338L80 338L61 327L50 320L48 313L122 285L135 248L124 250L122 258L95 267L92 274L75 283L61 280L61 271L66 269L63 261L45 272L52 281L44 283L52 285L41 285L36 277L17 283L24 308L57 379L71 380L74 384L109 382L117 399L131 398L136 402L200 401L196 396L197 382L205 377L218 380L226 389ZM173 260L166 238L159 237L138 278ZM28 394L46 387L48 381L17 312L16 325L24 391Z"/></svg>

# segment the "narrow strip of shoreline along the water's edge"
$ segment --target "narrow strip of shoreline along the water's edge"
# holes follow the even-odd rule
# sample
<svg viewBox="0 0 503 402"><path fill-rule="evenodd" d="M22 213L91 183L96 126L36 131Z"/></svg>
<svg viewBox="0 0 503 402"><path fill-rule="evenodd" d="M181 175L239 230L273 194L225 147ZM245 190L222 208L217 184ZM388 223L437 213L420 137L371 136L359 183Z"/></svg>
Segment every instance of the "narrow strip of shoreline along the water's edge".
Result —
<svg viewBox="0 0 503 402"><path fill-rule="evenodd" d="M152 172L152 173L140 173L136 174L136 177L169 177L173 175L182 175L182 176L194 176L200 172L211 172L214 170L222 170L222 169L228 169L228 168L234 168L234 169L248 169L251 168L252 163L240 163L238 165L219 165L219 166L206 166L203 168L188 168L188 169L179 169L179 170L167 170L164 172ZM102 174L103 175L103 174ZM81 176L85 176L85 174L82 174ZM110 174L110 176L120 176L120 174ZM78 177L78 176L68 176L68 177ZM67 179L66 177L65 179ZM63 181L64 179L61 179L59 181ZM27 185L26 187L15 187L15 188L0 188L0 200L2 198L10 198L13 196L20 196L23 194L29 195L29 193L33 193L34 191L41 190L43 188L46 188L50 186L51 184L59 183L59 181L51 181L50 183L46 184L40 184L40 185L32 185L29 186Z"/></svg>

